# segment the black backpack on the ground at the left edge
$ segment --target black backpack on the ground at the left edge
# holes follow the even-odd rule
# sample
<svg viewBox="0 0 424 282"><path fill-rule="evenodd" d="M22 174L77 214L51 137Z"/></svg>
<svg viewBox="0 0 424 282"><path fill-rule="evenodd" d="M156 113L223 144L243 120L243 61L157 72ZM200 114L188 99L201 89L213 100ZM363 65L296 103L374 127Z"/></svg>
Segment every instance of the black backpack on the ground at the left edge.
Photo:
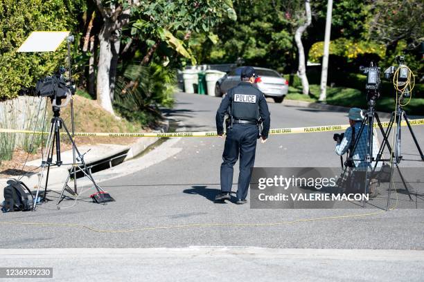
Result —
<svg viewBox="0 0 424 282"><path fill-rule="evenodd" d="M21 181L8 180L7 183L8 186L3 190L3 212L30 211L34 203L34 197L30 189Z"/></svg>

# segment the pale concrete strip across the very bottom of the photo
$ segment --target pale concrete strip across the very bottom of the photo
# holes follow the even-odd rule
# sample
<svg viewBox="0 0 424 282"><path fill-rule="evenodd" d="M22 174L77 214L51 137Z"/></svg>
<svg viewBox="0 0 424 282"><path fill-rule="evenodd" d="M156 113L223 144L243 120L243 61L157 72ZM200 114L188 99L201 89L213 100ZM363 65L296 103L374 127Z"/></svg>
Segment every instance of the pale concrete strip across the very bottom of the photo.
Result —
<svg viewBox="0 0 424 282"><path fill-rule="evenodd" d="M423 251L414 250L193 246L10 249L0 254L9 258L1 267L52 267L53 279L46 281L409 282L422 281L424 263Z"/></svg>

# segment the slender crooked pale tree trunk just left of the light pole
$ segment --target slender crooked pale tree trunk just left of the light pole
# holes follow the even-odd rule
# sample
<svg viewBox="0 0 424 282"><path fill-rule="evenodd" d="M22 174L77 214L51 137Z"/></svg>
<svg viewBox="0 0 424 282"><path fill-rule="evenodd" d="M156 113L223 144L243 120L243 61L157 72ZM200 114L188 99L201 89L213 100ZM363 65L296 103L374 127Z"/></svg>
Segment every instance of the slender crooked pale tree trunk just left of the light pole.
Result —
<svg viewBox="0 0 424 282"><path fill-rule="evenodd" d="M305 0L305 10L306 10L306 23L303 23L303 25L297 28L296 33L294 34L294 41L296 41L297 51L299 56L299 68L297 71L297 76L299 76L302 82L302 93L304 95L309 95L309 82L308 82L308 77L306 77L305 50L303 49L303 44L301 40L303 32L306 30L306 28L308 28L308 26L310 25L310 22L312 21L309 0Z"/></svg>

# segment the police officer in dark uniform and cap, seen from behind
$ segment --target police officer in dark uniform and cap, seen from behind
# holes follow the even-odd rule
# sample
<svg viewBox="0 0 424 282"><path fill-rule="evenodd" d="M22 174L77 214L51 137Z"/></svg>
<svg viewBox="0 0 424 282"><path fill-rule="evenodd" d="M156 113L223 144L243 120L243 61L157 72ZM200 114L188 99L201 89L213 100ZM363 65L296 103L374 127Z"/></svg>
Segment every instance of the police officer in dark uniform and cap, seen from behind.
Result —
<svg viewBox="0 0 424 282"><path fill-rule="evenodd" d="M237 201L238 205L246 203L251 169L254 167L256 140L260 133L261 142L265 143L270 131L270 111L262 92L253 86L256 73L251 66L242 68L241 82L229 89L216 113L216 129L222 138L224 134L224 115L228 113L230 124L227 127L224 153L221 164L221 193L215 200L229 200L233 184L233 166L240 154L240 173L238 175ZM263 122L259 132L258 122Z"/></svg>

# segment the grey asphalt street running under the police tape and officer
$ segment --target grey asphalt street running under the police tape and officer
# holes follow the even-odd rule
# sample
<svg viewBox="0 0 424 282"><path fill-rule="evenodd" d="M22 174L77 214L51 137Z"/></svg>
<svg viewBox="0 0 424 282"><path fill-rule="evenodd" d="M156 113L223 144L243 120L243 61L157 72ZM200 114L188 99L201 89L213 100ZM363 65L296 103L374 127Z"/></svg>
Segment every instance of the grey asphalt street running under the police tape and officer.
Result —
<svg viewBox="0 0 424 282"><path fill-rule="evenodd" d="M176 97L175 109L166 115L179 124L178 131L215 130L219 98L185 93ZM348 121L346 113L282 104L270 103L270 111L272 128ZM405 129L403 155L418 160ZM414 131L424 147L424 126L414 126ZM266 144L258 144L255 166L338 167L332 137L333 132L272 135ZM51 202L37 212L2 214L0 246L424 249L423 209L250 209L249 204L213 203L220 189L223 145L220 138L172 138L147 155L121 164L121 173L111 172L115 178L100 183L116 199L114 203L90 203L89 190L74 206L65 200L60 210ZM401 166L423 164L403 162ZM127 175L120 177L123 174ZM236 168L234 182L237 175ZM107 173L103 171L99 178L107 178ZM373 215L364 216L369 213ZM352 215L360 216L328 218Z"/></svg>

